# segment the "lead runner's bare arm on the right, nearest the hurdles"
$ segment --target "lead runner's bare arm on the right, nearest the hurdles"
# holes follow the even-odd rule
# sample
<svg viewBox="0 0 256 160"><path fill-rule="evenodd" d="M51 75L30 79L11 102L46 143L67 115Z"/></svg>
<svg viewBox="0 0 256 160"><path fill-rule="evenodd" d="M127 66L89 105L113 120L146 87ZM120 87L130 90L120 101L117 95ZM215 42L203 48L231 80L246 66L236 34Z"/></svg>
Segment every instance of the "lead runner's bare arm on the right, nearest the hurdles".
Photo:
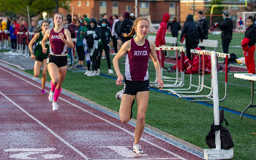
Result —
<svg viewBox="0 0 256 160"><path fill-rule="evenodd" d="M150 49L151 49L150 57L153 60L154 68L156 68L156 71L157 71L157 83L159 84L159 87L157 87L157 88L160 88L160 90L162 90L164 83L162 82L160 64L157 59L156 45L154 44L153 41L149 41L149 44L150 44Z"/></svg>

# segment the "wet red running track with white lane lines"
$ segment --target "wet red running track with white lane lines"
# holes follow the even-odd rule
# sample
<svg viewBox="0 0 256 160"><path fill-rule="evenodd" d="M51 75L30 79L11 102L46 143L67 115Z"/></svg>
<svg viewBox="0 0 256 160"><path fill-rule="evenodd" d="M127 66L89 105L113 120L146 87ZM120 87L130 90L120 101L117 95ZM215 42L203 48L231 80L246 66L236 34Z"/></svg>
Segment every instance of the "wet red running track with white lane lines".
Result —
<svg viewBox="0 0 256 160"><path fill-rule="evenodd" d="M37 81L0 65L0 159L202 159L61 93L59 111ZM46 90L50 88L46 87Z"/></svg>

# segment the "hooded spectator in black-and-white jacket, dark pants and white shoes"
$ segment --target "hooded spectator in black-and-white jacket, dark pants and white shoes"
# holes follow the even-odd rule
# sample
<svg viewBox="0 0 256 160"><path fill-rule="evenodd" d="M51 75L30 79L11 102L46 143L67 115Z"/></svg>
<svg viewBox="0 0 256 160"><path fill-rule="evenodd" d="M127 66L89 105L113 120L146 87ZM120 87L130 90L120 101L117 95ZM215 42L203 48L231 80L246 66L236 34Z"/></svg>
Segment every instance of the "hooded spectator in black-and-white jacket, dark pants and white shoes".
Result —
<svg viewBox="0 0 256 160"><path fill-rule="evenodd" d="M99 56L99 39L100 39L101 33L99 28L97 28L97 21L94 18L91 18L90 25L85 33L84 39L86 39L87 46L89 47L89 44L93 44L93 47L89 47L89 50L91 52L91 63L92 63L92 69L91 73L87 74L87 76L99 76L98 68L97 68L97 56Z"/></svg>

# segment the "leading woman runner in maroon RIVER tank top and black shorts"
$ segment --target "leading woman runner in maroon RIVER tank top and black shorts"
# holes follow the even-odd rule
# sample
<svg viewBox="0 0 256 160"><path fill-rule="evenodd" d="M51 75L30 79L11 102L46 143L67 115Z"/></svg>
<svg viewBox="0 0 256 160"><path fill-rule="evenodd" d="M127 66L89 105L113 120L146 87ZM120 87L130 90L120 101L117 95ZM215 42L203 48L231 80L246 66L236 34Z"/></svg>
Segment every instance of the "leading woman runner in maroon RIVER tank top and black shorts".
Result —
<svg viewBox="0 0 256 160"><path fill-rule="evenodd" d="M161 71L157 54L155 52L155 44L153 41L148 41L149 23L145 17L139 17L135 20L132 26L132 31L129 35L137 33L135 39L125 42L118 54L113 59L113 66L118 76L117 85L122 85L124 80L124 94L121 99L119 116L121 122L127 123L131 115L132 101L137 98L138 115L137 125L135 128L135 142L133 143L133 151L135 153L143 153L139 141L145 127L145 115L148 107L149 97L149 81L148 81L148 57L151 56L154 66L157 70L157 82L162 89L164 86L161 79ZM126 55L125 60L125 79L121 75L118 67L118 60Z"/></svg>

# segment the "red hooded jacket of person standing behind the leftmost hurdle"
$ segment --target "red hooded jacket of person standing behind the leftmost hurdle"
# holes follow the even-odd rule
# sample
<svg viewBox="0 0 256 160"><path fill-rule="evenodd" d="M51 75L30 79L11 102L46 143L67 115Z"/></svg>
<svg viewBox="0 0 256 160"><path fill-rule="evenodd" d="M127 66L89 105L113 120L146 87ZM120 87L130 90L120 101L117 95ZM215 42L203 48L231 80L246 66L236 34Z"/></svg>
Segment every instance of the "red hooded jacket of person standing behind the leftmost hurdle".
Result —
<svg viewBox="0 0 256 160"><path fill-rule="evenodd" d="M165 13L162 17L162 23L160 23L159 28L157 30L157 37L156 37L156 46L165 45L165 32L167 29L167 22L170 19L170 15Z"/></svg>

